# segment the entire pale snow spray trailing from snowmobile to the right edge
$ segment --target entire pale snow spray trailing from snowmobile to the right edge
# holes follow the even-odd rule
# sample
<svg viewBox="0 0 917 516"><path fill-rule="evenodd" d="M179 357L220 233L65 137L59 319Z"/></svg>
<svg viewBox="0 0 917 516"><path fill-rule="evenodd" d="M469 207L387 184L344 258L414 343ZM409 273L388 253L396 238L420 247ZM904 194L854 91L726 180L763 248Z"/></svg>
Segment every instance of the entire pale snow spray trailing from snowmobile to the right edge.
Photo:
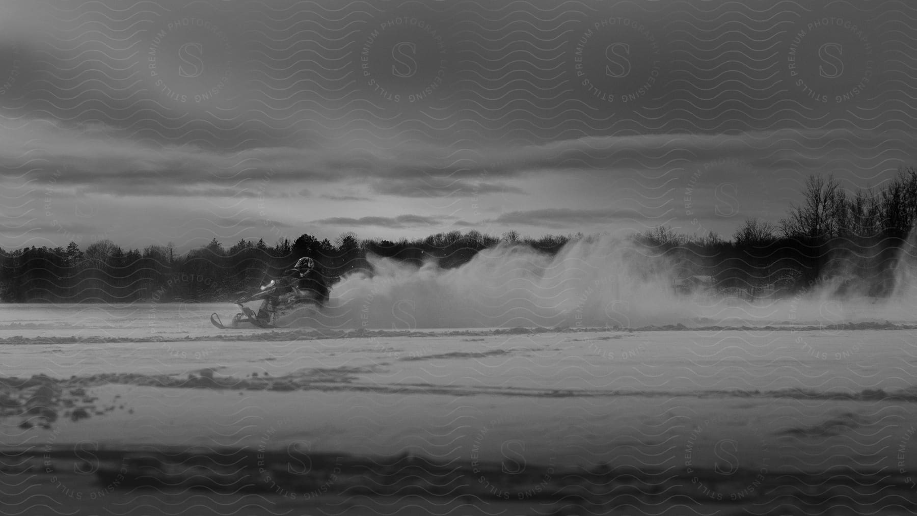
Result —
<svg viewBox="0 0 917 516"><path fill-rule="evenodd" d="M525 246L485 249L456 269L417 267L370 257L372 274L346 275L331 306L299 324L330 328L412 330L465 327L641 327L842 324L913 321L917 252L901 261L894 300L840 298L825 284L780 300L747 302L726 295L679 295L672 259L629 239L596 236L570 241L551 256ZM905 270L902 269L902 270ZM908 276L910 274L910 276ZM910 298L908 298L910 296ZM910 304L901 304L902 299ZM897 307L897 308L896 308ZM905 309L905 307L907 309ZM909 312L910 310L910 312Z"/></svg>

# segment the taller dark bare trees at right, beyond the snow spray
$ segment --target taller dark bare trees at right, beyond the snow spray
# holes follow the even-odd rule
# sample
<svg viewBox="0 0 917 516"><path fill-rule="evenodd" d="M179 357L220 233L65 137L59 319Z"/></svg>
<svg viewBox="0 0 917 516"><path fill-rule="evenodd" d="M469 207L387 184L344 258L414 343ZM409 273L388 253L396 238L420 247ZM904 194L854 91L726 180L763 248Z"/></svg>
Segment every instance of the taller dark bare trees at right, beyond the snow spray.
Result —
<svg viewBox="0 0 917 516"><path fill-rule="evenodd" d="M881 190L846 192L832 176L809 176L802 203L779 223L748 219L731 241L685 237L664 227L640 236L679 274L709 275L721 288L791 295L815 285L837 295L888 296L917 218L917 169Z"/></svg>

